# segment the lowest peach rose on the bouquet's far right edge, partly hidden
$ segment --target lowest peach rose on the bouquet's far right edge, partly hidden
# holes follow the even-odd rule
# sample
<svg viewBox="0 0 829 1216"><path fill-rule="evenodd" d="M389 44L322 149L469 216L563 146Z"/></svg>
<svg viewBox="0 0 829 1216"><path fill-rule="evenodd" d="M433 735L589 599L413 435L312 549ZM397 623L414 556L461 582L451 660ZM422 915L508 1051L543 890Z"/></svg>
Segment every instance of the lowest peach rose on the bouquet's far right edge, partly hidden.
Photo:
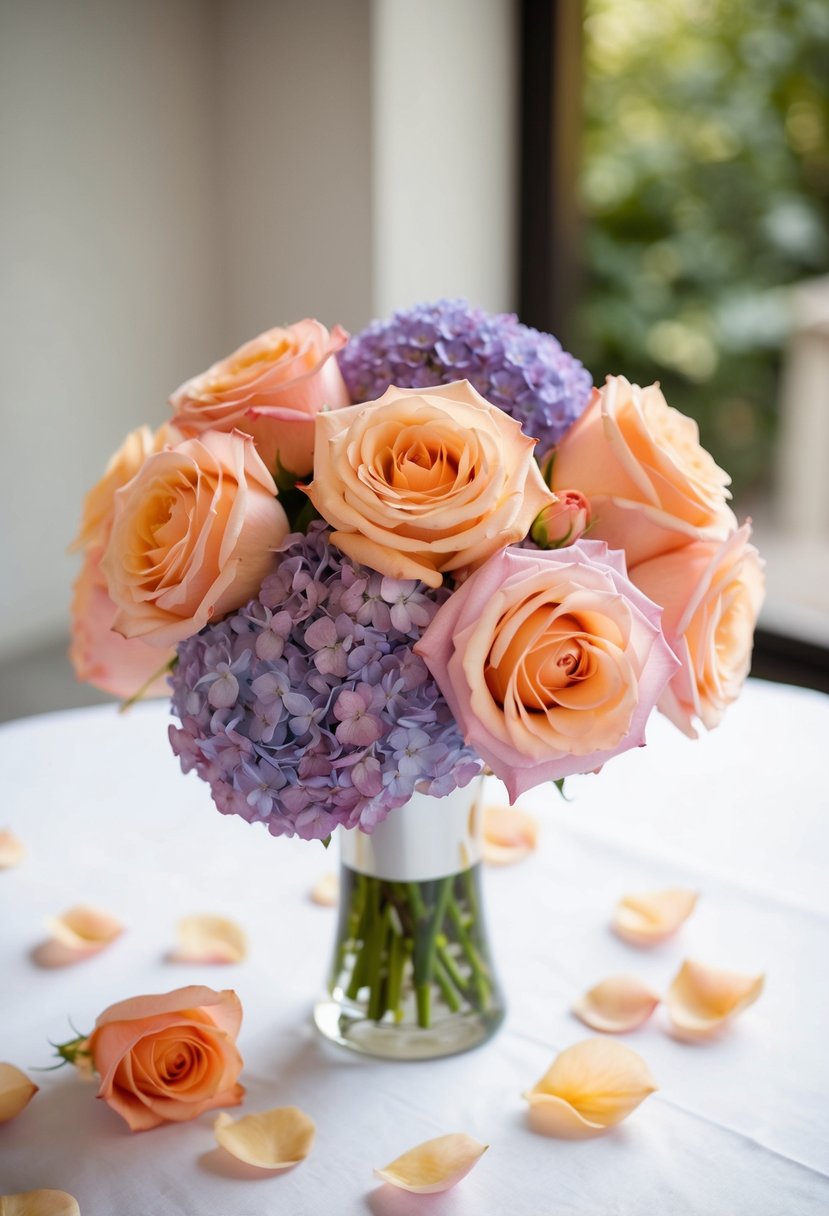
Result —
<svg viewBox="0 0 829 1216"><path fill-rule="evenodd" d="M682 668L659 708L697 738L739 696L751 665L754 630L763 601L763 563L745 523L724 541L694 541L643 562L631 579L660 604L662 627Z"/></svg>

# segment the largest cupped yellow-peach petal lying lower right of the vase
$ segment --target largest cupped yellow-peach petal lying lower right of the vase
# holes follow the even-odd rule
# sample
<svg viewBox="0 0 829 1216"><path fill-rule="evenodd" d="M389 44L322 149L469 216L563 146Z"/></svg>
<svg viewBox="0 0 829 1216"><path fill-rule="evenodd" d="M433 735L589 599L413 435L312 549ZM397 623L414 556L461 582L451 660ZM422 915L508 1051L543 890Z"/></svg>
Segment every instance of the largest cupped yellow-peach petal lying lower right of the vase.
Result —
<svg viewBox="0 0 829 1216"><path fill-rule="evenodd" d="M630 1047L586 1038L560 1052L524 1097L536 1131L576 1139L621 1122L656 1088L648 1065Z"/></svg>

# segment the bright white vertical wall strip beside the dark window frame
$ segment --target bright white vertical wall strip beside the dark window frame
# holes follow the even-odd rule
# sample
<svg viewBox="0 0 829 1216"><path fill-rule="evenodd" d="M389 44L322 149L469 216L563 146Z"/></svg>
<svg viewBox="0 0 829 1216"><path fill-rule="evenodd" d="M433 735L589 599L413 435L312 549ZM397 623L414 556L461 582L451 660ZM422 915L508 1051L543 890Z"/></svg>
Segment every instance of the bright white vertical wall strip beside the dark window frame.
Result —
<svg viewBox="0 0 829 1216"><path fill-rule="evenodd" d="M515 302L517 5L373 0L374 305Z"/></svg>

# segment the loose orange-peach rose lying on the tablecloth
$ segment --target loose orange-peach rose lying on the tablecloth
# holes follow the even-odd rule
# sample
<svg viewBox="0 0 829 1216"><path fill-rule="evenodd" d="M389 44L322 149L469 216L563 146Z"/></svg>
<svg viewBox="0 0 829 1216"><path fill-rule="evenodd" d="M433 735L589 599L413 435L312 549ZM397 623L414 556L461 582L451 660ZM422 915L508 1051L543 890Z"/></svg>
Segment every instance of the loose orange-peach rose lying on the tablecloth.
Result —
<svg viewBox="0 0 829 1216"><path fill-rule="evenodd" d="M237 1107L241 1024L239 998L229 990L191 986L111 1004L85 1043L98 1098L134 1132Z"/></svg>

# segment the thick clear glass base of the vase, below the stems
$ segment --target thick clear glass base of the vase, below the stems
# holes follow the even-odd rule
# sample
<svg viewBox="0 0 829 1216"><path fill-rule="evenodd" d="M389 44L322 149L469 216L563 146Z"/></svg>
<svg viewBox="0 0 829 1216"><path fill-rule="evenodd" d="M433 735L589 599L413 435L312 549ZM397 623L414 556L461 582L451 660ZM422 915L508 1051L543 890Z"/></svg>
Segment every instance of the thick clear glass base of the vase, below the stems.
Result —
<svg viewBox="0 0 829 1216"><path fill-rule="evenodd" d="M423 1028L393 1020L372 1021L363 1009L334 995L316 1003L314 1021L323 1038L361 1055L428 1060L480 1047L503 1021L503 1009L491 1014L458 1013Z"/></svg>

